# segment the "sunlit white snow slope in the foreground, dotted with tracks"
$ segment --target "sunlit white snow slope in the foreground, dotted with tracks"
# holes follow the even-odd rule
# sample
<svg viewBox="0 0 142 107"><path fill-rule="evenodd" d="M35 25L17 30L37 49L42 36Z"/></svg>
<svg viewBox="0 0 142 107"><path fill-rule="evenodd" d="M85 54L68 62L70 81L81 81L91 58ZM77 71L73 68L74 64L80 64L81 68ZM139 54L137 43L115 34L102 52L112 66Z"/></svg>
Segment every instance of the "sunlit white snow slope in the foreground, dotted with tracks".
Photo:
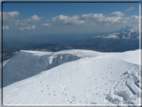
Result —
<svg viewBox="0 0 142 107"><path fill-rule="evenodd" d="M79 59L6 86L4 104L140 104L138 51L75 52Z"/></svg>

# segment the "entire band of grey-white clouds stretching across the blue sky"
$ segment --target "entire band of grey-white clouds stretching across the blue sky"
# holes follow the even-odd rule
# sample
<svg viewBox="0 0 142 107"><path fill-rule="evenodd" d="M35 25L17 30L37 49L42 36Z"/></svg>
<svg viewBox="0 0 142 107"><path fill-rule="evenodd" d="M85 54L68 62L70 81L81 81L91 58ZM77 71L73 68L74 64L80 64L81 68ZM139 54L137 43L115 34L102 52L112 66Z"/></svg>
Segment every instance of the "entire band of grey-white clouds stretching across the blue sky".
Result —
<svg viewBox="0 0 142 107"><path fill-rule="evenodd" d="M127 11L132 10L134 7L130 7ZM38 15L33 15L28 19L24 20L16 20L20 16L18 11L12 12L3 12L3 21L4 22L13 22L12 25L21 25L18 30L32 30L35 29L35 25L31 25L34 22L41 21L44 17L39 17ZM58 15L52 17L51 19L46 20L49 23L43 23L42 26L53 26L62 25L62 26L86 26L87 28L93 28L99 26L116 26L119 25L121 28L126 26L131 27L131 32L136 31L139 26L139 16L133 15L130 17L126 17L125 14L121 11L112 12L108 15L104 15L103 13L88 13L82 15ZM22 27L23 25L27 25L26 27ZM55 25L55 26L54 26ZM59 28L60 26L58 26ZM110 27L112 28L112 27ZM120 27L119 27L120 28ZM3 29L9 29L9 26L3 27ZM17 29L17 28L16 28Z"/></svg>

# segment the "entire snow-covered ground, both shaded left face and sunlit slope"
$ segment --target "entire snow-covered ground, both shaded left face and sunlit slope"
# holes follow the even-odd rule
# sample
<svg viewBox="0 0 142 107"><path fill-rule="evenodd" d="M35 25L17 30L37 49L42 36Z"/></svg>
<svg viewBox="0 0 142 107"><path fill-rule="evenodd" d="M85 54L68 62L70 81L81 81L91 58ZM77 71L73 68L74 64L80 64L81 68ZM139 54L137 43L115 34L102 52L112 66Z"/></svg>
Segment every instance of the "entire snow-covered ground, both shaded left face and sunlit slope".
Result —
<svg viewBox="0 0 142 107"><path fill-rule="evenodd" d="M140 105L139 53L20 51L4 65L3 103Z"/></svg>

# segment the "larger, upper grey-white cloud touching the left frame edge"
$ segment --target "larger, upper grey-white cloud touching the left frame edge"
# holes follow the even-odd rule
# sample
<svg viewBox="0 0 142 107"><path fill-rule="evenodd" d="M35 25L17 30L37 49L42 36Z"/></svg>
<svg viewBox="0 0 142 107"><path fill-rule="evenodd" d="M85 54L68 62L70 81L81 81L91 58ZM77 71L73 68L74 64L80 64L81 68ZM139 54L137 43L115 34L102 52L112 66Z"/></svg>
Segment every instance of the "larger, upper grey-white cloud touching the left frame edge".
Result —
<svg viewBox="0 0 142 107"><path fill-rule="evenodd" d="M16 18L20 16L18 11L12 11L12 12L3 12L3 22L12 22ZM1 21L1 12L0 12L0 21Z"/></svg>

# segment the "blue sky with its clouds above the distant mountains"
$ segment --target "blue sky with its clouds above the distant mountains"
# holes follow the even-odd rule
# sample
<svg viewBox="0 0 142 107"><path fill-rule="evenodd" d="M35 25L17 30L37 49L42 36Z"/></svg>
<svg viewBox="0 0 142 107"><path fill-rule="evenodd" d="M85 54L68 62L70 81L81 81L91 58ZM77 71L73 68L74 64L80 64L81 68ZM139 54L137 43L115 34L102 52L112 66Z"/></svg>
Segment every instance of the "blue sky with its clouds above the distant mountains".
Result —
<svg viewBox="0 0 142 107"><path fill-rule="evenodd" d="M139 3L3 3L3 36L138 29Z"/></svg>

